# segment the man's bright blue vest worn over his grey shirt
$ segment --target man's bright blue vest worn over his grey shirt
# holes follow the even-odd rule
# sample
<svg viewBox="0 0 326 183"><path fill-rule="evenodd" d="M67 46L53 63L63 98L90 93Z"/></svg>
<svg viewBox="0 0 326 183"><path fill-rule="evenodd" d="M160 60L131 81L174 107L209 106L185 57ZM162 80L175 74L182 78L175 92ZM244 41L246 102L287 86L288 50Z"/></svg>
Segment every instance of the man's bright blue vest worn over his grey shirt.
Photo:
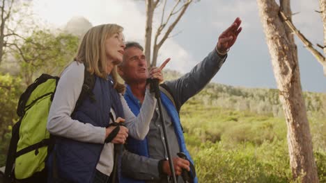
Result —
<svg viewBox="0 0 326 183"><path fill-rule="evenodd" d="M124 97L125 97L125 101L127 101L127 104L130 107L130 110L132 110L134 115L138 115L141 106L139 105L138 99L134 97L134 95L132 94L132 91L128 85ZM192 162L192 164L194 164L194 162L192 161L192 157L190 157L189 152L185 146L185 137L183 137L183 130L180 125L180 118L176 110L176 107L173 105L170 99L163 92L161 92L161 101L163 106L166 108L166 111L168 112L169 116L171 116L181 152L185 153L185 155L187 155L187 158ZM129 136L127 138L127 143L125 144L125 148L127 148L127 150L129 150L131 153L145 156L145 157L150 157L148 152L147 137L143 140L137 140ZM133 182L144 183L145 182L142 180L134 180L130 177L126 177L123 175L121 175L120 181L121 183L133 183ZM197 177L195 177L194 182L195 183L198 182Z"/></svg>

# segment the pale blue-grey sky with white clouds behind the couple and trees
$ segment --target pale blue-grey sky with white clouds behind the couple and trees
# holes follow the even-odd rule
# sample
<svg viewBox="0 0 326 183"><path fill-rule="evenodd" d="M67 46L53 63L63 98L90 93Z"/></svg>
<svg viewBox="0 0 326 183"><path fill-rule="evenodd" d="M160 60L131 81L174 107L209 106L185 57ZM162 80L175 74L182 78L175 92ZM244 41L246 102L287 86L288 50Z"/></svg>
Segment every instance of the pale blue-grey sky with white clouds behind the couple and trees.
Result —
<svg viewBox="0 0 326 183"><path fill-rule="evenodd" d="M125 39L143 44L146 7L142 0L35 0L33 10L47 24L64 26L75 16L86 17L95 26L116 23L125 28ZM169 1L171 3L171 1ZM169 4L169 3L168 3ZM315 10L318 0L291 3L295 26L313 43L323 44L323 22ZM155 12L154 29L160 23ZM158 64L171 58L166 68L186 73L214 49L219 34L236 17L242 19L242 33L228 53L222 69L212 79L226 85L276 88L270 54L255 0L201 0L192 3L160 49ZM326 77L316 58L296 39L302 89L326 92Z"/></svg>

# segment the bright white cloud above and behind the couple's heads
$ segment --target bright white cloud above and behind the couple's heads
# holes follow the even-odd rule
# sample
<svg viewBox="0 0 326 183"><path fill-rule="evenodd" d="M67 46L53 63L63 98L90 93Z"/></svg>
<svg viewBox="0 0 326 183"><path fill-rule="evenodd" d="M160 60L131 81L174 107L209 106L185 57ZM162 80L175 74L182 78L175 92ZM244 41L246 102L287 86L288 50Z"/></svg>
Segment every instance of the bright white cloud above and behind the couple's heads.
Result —
<svg viewBox="0 0 326 183"><path fill-rule="evenodd" d="M93 26L109 23L119 24L124 27L125 40L137 41L141 44L144 42L146 15L145 11L141 12L137 8L135 1L36 0L33 9L39 17L43 17L49 24L56 26L64 26L71 17L75 16L85 17L91 21ZM160 22L160 17L155 16L153 21L153 34L155 34L156 23ZM188 62L194 62L192 56L173 38L164 42L157 64L168 57L172 60L166 67L170 69L181 68L180 71L183 72L189 70ZM173 62L173 60L175 61Z"/></svg>

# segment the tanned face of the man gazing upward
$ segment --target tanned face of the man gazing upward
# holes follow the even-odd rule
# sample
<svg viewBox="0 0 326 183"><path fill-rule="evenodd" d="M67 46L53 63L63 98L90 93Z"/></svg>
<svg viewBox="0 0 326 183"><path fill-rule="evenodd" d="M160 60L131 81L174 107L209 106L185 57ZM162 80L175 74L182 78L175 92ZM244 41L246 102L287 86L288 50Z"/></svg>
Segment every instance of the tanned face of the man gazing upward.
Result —
<svg viewBox="0 0 326 183"><path fill-rule="evenodd" d="M148 78L146 57L137 47L125 49L124 62L119 67L119 74L125 82L143 82Z"/></svg>

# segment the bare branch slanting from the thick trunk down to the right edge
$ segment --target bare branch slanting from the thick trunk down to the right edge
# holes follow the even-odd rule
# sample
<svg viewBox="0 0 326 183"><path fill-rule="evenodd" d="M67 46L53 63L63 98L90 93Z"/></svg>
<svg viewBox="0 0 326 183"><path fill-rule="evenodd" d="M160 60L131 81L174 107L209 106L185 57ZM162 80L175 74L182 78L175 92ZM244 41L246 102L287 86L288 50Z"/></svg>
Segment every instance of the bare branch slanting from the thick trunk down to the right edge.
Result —
<svg viewBox="0 0 326 183"><path fill-rule="evenodd" d="M319 51L313 48L313 44L309 42L309 40L300 33L299 30L293 25L291 21L288 20L284 12L280 11L281 19L283 19L286 22L286 25L290 28L290 30L293 31L299 37L299 39L302 41L302 43L306 46L306 48L315 56L315 58L320 62L320 64L325 65L325 57L322 55Z"/></svg>

